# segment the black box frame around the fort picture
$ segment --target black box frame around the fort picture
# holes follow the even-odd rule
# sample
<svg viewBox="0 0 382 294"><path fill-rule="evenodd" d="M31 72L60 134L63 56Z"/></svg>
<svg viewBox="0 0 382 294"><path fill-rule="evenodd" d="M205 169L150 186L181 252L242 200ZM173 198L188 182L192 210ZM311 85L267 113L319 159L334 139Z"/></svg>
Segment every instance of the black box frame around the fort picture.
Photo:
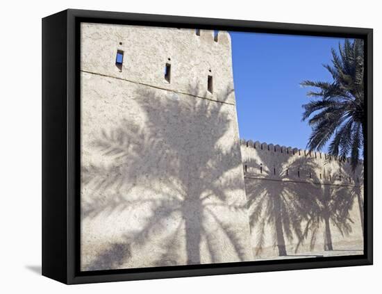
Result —
<svg viewBox="0 0 382 294"><path fill-rule="evenodd" d="M192 266L79 270L81 22L360 38L365 42L364 254ZM373 31L371 28L64 10L42 19L42 275L65 284L364 266L373 262Z"/></svg>

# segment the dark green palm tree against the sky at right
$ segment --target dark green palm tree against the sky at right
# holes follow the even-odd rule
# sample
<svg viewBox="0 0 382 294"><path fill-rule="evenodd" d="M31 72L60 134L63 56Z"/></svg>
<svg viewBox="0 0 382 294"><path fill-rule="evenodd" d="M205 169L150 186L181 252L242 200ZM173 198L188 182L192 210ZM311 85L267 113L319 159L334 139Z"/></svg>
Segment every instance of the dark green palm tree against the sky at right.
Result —
<svg viewBox="0 0 382 294"><path fill-rule="evenodd" d="M356 169L365 139L365 107L363 94L363 40L345 40L339 44L339 55L331 49L333 65L324 65L333 82L303 81L301 85L315 87L308 92L313 101L304 104L302 120L308 120L312 133L310 150L320 150L331 140L329 153L345 158L350 155Z"/></svg>

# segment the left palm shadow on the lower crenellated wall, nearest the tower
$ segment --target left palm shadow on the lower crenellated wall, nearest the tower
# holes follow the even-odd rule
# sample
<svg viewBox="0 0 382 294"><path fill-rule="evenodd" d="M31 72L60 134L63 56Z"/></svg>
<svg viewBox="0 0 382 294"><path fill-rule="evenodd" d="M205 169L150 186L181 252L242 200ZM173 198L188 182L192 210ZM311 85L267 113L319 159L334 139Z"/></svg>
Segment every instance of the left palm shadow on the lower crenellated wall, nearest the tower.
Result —
<svg viewBox="0 0 382 294"><path fill-rule="evenodd" d="M261 158L260 153L259 156L260 161L265 160ZM301 158L296 158L291 163L285 161L283 166L271 167L269 170L260 165L260 161L246 163L251 169L256 170L255 177L251 176L251 172L245 174L249 220L251 229L257 234L256 255L263 251L267 224L272 227L274 246L277 247L279 256L288 255L285 238L292 240L297 237L299 241L303 241L302 222L308 213L304 202L311 195L309 195L308 186L299 185L290 177L293 172L301 168L303 163ZM308 164L314 165L313 161ZM297 189L301 193L297 193Z"/></svg>

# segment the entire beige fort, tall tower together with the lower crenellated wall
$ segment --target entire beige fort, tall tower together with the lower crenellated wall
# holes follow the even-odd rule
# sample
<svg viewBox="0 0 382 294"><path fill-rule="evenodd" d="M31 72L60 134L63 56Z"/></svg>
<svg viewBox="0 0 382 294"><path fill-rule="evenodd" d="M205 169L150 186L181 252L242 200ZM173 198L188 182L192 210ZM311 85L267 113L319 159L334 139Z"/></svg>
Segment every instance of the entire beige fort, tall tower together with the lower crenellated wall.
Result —
<svg viewBox="0 0 382 294"><path fill-rule="evenodd" d="M83 270L363 250L362 168L325 157L240 141L229 33L81 24Z"/></svg>

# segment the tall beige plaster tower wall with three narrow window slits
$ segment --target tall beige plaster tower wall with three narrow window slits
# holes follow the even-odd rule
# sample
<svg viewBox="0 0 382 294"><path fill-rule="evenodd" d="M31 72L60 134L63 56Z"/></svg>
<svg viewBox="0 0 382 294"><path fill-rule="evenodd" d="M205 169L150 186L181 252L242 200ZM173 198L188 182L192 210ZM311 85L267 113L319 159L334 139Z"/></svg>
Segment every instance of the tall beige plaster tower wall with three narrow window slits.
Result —
<svg viewBox="0 0 382 294"><path fill-rule="evenodd" d="M253 259L229 35L82 24L81 165L83 270Z"/></svg>

